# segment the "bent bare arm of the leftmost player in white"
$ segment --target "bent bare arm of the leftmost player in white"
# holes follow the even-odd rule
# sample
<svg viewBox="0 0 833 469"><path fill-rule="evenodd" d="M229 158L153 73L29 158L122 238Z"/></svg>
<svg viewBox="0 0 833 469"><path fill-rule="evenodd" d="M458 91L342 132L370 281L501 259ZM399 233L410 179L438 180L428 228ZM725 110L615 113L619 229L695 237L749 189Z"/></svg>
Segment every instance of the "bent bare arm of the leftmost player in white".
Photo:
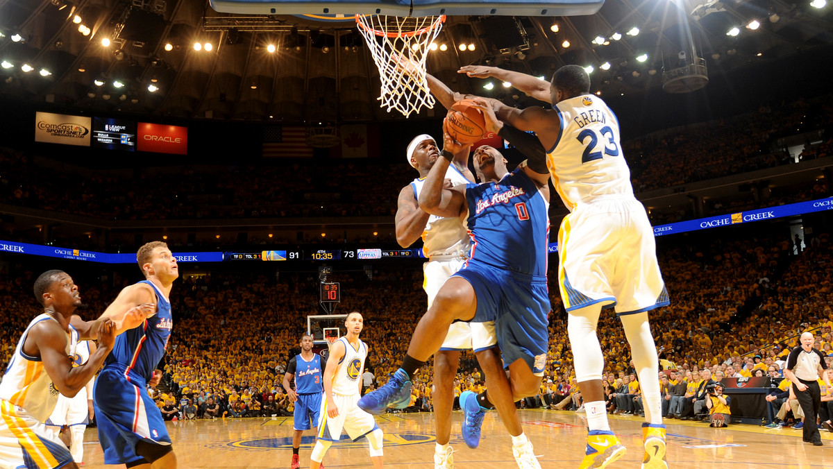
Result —
<svg viewBox="0 0 833 469"><path fill-rule="evenodd" d="M30 340L34 342L40 352L43 369L52 379L55 389L66 397L75 397L96 375L112 350L116 340L116 325L109 319L100 322L96 336L100 337L98 348L80 367L72 367L72 362L67 360L64 350L66 332L52 322L41 322L32 327L27 343Z"/></svg>

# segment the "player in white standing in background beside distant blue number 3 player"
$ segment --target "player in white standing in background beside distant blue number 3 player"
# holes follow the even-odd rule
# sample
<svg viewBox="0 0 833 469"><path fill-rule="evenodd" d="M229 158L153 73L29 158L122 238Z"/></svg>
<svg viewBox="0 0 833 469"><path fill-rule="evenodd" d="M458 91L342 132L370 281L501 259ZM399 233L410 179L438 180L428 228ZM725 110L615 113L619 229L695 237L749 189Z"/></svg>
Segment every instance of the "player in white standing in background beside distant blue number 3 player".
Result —
<svg viewBox="0 0 833 469"><path fill-rule="evenodd" d="M311 469L321 467L324 453L342 436L342 428L354 442L367 437L373 467L384 467L382 442L384 434L377 427L373 416L358 408L362 397L362 372L367 358L367 345L359 339L364 327L360 312L354 311L344 320L347 335L330 347L327 367L324 369L324 398L318 422L318 437L312 449Z"/></svg>

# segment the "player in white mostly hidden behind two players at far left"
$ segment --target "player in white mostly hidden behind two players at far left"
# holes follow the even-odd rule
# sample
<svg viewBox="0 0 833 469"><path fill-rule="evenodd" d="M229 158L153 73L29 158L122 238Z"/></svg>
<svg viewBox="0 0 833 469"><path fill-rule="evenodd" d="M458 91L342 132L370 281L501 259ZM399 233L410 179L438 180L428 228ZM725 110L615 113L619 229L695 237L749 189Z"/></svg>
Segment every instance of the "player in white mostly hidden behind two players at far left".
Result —
<svg viewBox="0 0 833 469"><path fill-rule="evenodd" d="M80 367L89 360L90 354L96 351L96 344L92 341L79 342L77 330L70 326L70 351L72 366ZM69 447L72 459L76 462L84 461L84 431L87 429L87 423L95 415L92 408L94 382L95 378L87 382L87 386L82 387L75 397L59 395L55 410L47 421L43 422L54 437L60 438Z"/></svg>

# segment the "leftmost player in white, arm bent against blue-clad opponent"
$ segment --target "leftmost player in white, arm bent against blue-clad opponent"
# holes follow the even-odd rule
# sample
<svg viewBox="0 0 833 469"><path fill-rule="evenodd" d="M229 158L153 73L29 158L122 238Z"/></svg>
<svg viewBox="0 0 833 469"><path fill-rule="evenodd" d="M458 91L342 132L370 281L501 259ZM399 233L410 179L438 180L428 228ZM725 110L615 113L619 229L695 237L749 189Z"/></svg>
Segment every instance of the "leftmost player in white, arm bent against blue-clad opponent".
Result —
<svg viewBox="0 0 833 469"><path fill-rule="evenodd" d="M43 313L23 331L0 382L0 468L77 468L67 447L42 424L58 393L72 397L92 379L115 342L117 324L98 322L98 350L87 364L72 367L69 341L72 312L81 295L66 272L52 270L35 281Z"/></svg>

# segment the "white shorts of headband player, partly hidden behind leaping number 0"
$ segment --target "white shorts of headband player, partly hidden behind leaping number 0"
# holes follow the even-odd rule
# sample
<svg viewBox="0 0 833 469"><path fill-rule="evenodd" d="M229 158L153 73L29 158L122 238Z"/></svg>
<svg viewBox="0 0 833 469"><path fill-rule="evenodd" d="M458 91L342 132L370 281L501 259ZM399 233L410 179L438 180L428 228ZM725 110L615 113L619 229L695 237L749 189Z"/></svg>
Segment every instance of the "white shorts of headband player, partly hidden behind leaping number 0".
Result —
<svg viewBox="0 0 833 469"><path fill-rule="evenodd" d="M428 307L434 301L436 293L466 263L462 257L453 257L441 261L428 261L422 266L422 288L428 295ZM496 347L495 322L455 322L446 333L440 350L474 350L480 352Z"/></svg>

